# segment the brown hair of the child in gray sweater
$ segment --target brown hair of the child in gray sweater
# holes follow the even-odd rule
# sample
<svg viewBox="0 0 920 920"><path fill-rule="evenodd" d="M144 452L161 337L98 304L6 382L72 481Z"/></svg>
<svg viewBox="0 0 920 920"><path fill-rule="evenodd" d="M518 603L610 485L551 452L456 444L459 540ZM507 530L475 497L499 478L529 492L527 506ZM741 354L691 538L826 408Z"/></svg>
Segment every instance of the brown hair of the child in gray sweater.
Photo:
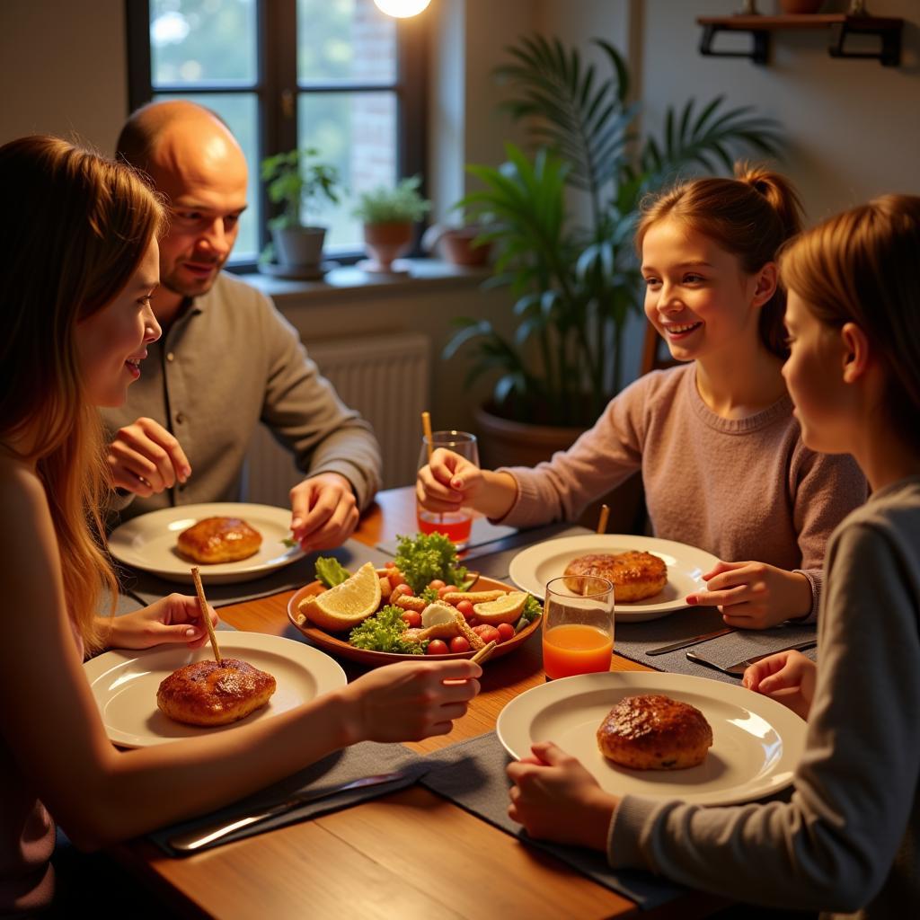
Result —
<svg viewBox="0 0 920 920"><path fill-rule="evenodd" d="M863 330L885 368L881 411L920 448L920 198L884 195L792 240L785 287L825 326Z"/></svg>

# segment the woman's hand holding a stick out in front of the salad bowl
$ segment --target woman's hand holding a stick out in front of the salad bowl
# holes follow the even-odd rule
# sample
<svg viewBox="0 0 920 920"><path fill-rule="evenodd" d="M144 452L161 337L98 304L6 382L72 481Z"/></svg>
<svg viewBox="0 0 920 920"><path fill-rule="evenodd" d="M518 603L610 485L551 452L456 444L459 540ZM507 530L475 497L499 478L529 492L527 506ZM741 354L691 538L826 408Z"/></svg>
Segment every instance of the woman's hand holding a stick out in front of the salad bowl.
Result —
<svg viewBox="0 0 920 920"><path fill-rule="evenodd" d="M342 691L352 703L352 741L418 742L446 735L479 692L482 668L468 659L400 661Z"/></svg>

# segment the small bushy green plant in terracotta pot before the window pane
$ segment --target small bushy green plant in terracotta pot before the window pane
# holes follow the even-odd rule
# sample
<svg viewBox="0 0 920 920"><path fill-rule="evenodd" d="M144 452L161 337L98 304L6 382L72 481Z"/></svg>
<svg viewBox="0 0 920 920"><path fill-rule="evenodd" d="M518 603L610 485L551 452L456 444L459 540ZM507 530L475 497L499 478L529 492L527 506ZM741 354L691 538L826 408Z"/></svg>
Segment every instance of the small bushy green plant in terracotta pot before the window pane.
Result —
<svg viewBox="0 0 920 920"><path fill-rule="evenodd" d="M365 271L392 274L393 262L408 252L415 224L431 209L422 198L420 176L397 182L395 188L377 186L358 196L354 216L364 224L364 246L371 259L360 263Z"/></svg>

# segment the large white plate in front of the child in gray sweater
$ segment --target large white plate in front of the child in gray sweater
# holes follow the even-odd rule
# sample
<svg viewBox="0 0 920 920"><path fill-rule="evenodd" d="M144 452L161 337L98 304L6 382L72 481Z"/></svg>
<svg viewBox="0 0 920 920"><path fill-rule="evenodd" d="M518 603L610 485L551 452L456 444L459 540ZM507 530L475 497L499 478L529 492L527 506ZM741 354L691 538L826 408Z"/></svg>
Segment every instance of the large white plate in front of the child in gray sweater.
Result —
<svg viewBox="0 0 920 920"><path fill-rule="evenodd" d="M608 761L596 733L624 696L661 693L690 703L712 726L706 760L685 770L630 770ZM792 782L805 748L805 722L767 696L686 674L606 672L541 684L504 707L501 743L520 759L551 741L581 761L615 795L731 805L763 799Z"/></svg>

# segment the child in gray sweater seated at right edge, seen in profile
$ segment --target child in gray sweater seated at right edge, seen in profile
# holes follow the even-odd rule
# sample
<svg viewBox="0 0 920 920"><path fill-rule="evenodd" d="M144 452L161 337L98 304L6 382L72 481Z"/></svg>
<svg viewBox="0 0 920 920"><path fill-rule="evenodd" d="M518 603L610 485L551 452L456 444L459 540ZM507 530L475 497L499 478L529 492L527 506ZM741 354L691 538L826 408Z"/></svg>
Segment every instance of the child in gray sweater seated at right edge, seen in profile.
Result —
<svg viewBox="0 0 920 920"><path fill-rule="evenodd" d="M509 814L532 836L745 902L920 915L918 253L920 198L891 195L799 236L779 263L802 438L853 454L872 489L831 540L820 669L781 652L744 676L808 719L791 800L620 798L547 739L508 767Z"/></svg>

